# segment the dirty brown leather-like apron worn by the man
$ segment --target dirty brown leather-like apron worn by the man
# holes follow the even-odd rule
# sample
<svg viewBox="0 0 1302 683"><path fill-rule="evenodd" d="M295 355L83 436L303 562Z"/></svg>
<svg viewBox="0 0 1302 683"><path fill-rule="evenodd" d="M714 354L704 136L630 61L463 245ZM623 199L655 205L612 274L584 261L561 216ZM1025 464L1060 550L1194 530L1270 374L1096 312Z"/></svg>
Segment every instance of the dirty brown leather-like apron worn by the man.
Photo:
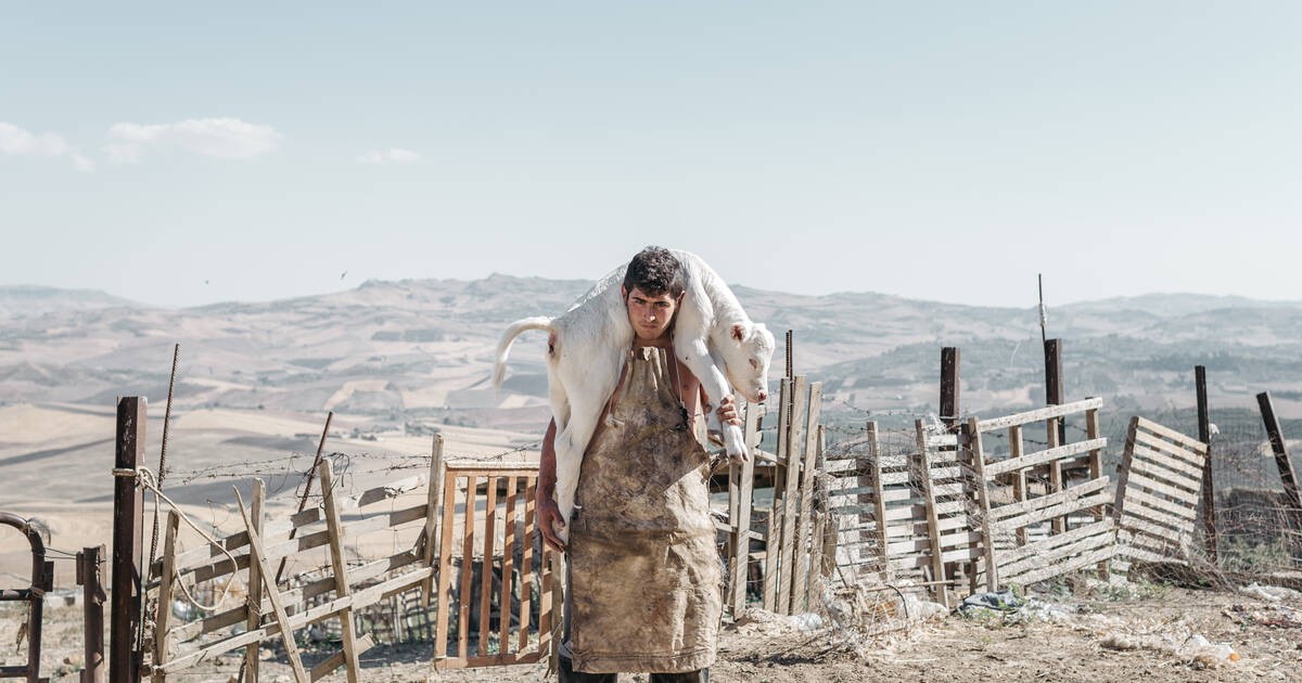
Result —
<svg viewBox="0 0 1302 683"><path fill-rule="evenodd" d="M664 349L633 349L583 454L566 552L575 671L694 671L715 661L723 572L710 455Z"/></svg>

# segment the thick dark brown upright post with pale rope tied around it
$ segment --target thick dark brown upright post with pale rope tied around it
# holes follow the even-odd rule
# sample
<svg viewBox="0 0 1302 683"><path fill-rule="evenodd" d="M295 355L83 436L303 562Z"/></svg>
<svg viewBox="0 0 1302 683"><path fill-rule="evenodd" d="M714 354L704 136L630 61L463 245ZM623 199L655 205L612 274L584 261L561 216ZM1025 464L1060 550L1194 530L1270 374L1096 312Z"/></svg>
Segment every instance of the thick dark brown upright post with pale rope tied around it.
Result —
<svg viewBox="0 0 1302 683"><path fill-rule="evenodd" d="M134 472L145 462L145 397L117 399L117 438L113 466L113 592L108 636L109 680L141 678L135 636L141 628L141 511L142 492Z"/></svg>

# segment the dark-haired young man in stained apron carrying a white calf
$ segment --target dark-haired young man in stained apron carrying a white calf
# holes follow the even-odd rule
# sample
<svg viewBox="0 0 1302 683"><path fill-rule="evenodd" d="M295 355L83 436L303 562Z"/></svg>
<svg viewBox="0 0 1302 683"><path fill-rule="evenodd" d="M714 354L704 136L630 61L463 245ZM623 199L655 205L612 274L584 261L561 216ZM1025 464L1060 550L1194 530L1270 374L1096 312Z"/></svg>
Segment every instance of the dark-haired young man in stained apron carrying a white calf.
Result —
<svg viewBox="0 0 1302 683"><path fill-rule="evenodd" d="M574 514L560 519L556 423L543 438L538 524L568 558L560 682L708 682L723 614L710 519L700 382L673 355L682 267L647 247L629 263L624 302L634 341L579 470ZM741 424L732 397L719 416ZM569 524L569 546L555 527Z"/></svg>

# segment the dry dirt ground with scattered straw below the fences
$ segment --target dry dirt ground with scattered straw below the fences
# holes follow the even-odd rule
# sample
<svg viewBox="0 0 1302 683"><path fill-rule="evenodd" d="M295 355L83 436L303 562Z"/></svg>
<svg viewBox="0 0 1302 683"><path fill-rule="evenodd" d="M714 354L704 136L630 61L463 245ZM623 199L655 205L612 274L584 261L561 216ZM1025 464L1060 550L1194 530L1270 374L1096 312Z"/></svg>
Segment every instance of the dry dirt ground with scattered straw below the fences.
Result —
<svg viewBox="0 0 1302 683"><path fill-rule="evenodd" d="M1302 627L1266 626L1245 610L1271 605L1302 608L1302 600L1267 602L1242 593L1161 588L1143 598L1048 598L1056 617L1005 623L1000 614L965 618L957 614L917 623L875 639L846 640L845 628L797 628L790 618L750 613L728 623L720 639L720 657L711 667L716 682L862 682L1001 680L1001 682L1107 682L1142 676L1144 682L1185 680L1299 680L1302 679ZM1260 614L1260 611L1258 613ZM16 650L21 613L0 611L0 663L22 663L26 647ZM47 611L42 673L52 680L77 680L81 667L81 610ZM1170 652L1117 649L1111 636L1154 641L1161 636L1184 643L1200 634L1212 643L1228 643L1238 661L1207 666ZM285 660L264 649L263 680L292 680ZM305 654L305 663L328 652ZM430 645L378 647L363 656L366 680L544 680L546 665L441 671L430 667ZM203 667L171 676L176 680L227 682L240 660L227 656ZM625 675L624 680L646 680ZM324 680L344 680L341 673Z"/></svg>

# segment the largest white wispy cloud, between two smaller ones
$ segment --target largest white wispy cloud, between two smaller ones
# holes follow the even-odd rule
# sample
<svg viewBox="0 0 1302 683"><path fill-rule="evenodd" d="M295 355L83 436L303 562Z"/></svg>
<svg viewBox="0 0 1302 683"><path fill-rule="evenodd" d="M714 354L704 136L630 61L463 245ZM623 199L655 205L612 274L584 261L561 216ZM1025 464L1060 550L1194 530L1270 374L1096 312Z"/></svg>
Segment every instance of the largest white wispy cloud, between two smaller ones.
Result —
<svg viewBox="0 0 1302 683"><path fill-rule="evenodd" d="M113 124L104 152L111 161L134 164L148 150L181 150L212 159L253 159L285 139L276 129L238 118L187 118L174 124Z"/></svg>

